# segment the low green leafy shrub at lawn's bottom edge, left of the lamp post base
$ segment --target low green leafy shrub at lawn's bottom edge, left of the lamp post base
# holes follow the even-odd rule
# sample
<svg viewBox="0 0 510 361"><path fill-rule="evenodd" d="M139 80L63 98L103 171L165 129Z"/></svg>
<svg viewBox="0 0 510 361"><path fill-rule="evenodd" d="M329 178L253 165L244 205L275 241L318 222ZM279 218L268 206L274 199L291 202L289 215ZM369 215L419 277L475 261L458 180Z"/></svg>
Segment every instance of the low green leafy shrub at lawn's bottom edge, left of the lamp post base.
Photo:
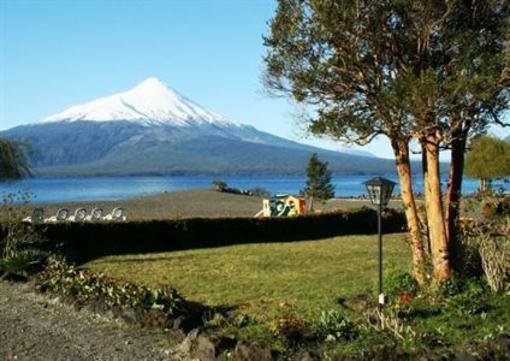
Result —
<svg viewBox="0 0 510 361"><path fill-rule="evenodd" d="M313 326L319 340L351 340L358 333L356 325L338 311L322 311Z"/></svg>

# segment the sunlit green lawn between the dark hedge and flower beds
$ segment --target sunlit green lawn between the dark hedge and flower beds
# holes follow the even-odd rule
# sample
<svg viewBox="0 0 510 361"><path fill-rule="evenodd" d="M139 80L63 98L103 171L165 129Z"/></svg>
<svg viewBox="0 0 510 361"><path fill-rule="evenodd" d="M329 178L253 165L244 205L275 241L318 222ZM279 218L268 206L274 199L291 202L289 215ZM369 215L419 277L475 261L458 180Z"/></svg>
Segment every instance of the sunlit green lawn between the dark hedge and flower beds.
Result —
<svg viewBox="0 0 510 361"><path fill-rule="evenodd" d="M409 269L404 235L385 236L384 247L386 267ZM111 256L86 267L149 286L171 285L189 300L266 319L284 301L310 314L372 288L377 236Z"/></svg>

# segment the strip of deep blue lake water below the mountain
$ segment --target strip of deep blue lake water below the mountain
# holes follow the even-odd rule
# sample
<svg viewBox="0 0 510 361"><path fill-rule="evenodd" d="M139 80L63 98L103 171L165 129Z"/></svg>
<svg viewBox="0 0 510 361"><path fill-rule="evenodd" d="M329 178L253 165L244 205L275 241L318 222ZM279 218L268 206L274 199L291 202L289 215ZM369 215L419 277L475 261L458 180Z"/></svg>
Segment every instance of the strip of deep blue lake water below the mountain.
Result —
<svg viewBox="0 0 510 361"><path fill-rule="evenodd" d="M359 196L365 193L363 182L370 176L335 176L337 197ZM397 181L395 177L389 177ZM225 177L93 177L93 178L30 178L0 183L0 194L24 191L33 194L32 203L57 203L73 201L118 200L162 192L193 188L211 188L212 181L221 179L229 187L251 189L262 187L272 194L298 194L305 184L304 176L225 176ZM443 182L446 187L446 180ZM510 185L495 182L494 187ZM472 193L477 188L473 179L465 179L463 192ZM421 177L415 179L415 191L422 190ZM395 192L398 192L398 187Z"/></svg>

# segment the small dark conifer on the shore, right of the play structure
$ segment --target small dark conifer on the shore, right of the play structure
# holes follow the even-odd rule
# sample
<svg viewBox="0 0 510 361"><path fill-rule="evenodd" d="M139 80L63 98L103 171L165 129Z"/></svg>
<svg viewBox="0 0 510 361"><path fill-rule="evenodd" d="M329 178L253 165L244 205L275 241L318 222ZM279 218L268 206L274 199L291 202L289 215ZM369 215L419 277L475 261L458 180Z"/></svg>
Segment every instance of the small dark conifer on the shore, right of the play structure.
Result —
<svg viewBox="0 0 510 361"><path fill-rule="evenodd" d="M331 183L328 163L321 162L317 153L313 153L308 160L306 177L303 193L309 199L309 210L313 210L315 200L327 200L335 196L335 186Z"/></svg>

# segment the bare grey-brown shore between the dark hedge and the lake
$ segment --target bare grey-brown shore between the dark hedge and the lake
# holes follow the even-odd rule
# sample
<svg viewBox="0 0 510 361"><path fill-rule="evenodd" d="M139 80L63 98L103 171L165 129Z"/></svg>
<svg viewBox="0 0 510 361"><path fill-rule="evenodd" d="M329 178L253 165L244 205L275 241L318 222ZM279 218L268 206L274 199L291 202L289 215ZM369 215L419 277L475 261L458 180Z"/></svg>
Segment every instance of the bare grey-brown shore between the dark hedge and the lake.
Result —
<svg viewBox="0 0 510 361"><path fill-rule="evenodd" d="M357 208L368 206L370 202L354 199L331 199L316 208L329 212L339 208ZM399 207L400 202L392 202ZM129 219L166 219L177 217L252 217L262 208L262 199L228 193L212 189L195 189L180 192L160 193L156 195L109 202L75 202L43 205L47 215L54 214L59 208L67 207L74 211L78 207L91 210L101 207L111 211L114 207L123 207Z"/></svg>

